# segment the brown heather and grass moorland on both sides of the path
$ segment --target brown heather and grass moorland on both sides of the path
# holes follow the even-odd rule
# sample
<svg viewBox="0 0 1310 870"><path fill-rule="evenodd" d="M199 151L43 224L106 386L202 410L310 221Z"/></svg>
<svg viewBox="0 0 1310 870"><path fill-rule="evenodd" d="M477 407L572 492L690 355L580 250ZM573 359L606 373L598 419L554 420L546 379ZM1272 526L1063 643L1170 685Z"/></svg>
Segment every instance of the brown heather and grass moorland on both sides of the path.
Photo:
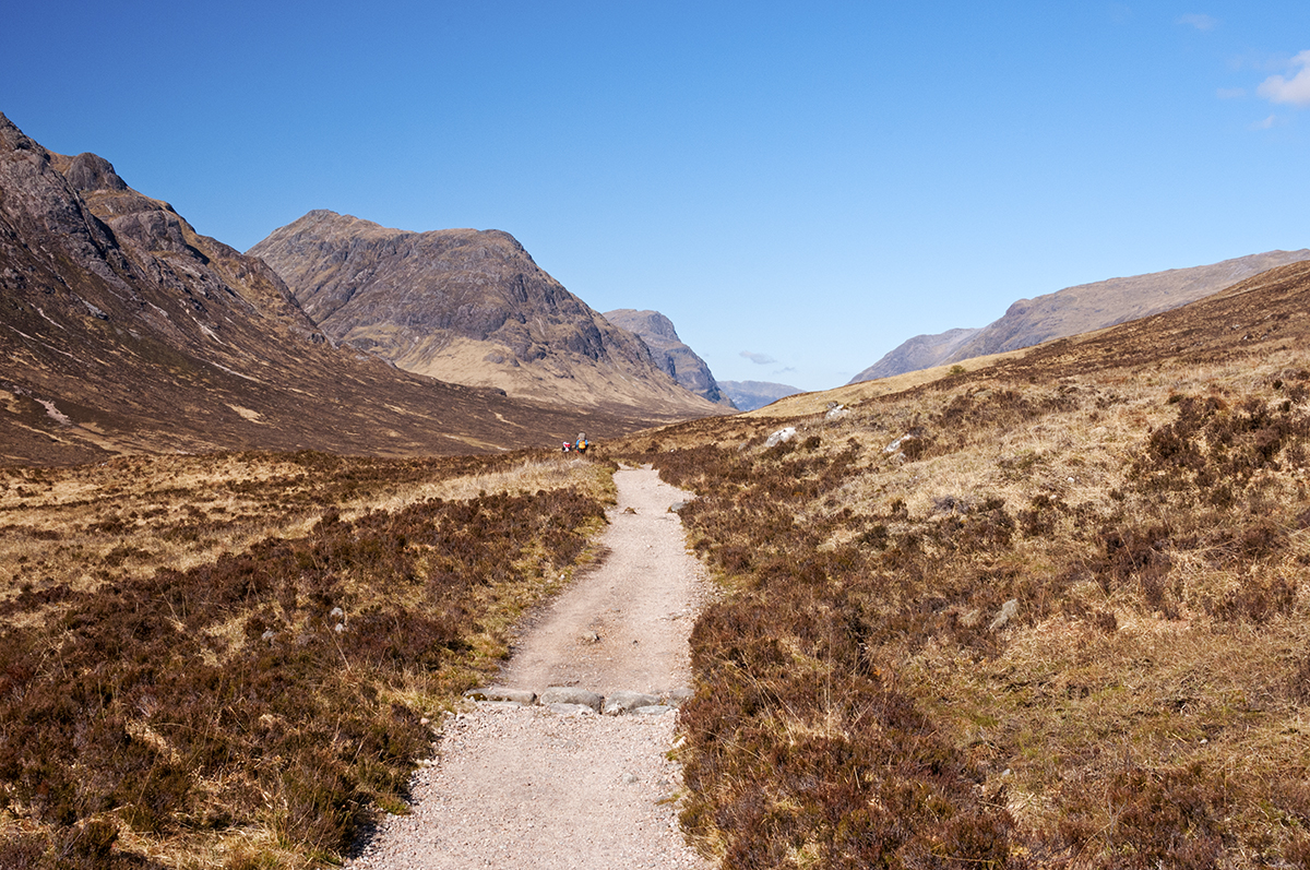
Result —
<svg viewBox="0 0 1310 870"><path fill-rule="evenodd" d="M1289 266L836 413L605 444L697 493L723 586L690 836L734 870L1310 863L1307 300ZM4 469L0 865L337 861L586 561L612 468Z"/></svg>

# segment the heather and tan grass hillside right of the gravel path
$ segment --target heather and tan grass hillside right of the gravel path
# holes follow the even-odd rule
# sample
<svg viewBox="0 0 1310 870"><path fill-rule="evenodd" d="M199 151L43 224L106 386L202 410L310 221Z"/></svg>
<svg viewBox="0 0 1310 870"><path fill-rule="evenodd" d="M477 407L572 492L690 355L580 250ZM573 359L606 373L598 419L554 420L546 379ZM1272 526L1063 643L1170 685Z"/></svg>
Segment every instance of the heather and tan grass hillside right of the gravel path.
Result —
<svg viewBox="0 0 1310 870"><path fill-rule="evenodd" d="M1244 290L625 444L732 591L683 719L726 867L1305 866L1310 270Z"/></svg>

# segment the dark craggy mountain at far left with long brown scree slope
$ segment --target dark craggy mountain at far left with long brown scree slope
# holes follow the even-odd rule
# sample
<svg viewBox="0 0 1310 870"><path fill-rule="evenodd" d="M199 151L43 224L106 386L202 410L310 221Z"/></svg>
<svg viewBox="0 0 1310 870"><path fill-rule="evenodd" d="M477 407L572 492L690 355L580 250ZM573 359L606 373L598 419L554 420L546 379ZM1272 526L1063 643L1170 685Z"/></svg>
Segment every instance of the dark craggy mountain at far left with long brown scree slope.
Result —
<svg viewBox="0 0 1310 870"><path fill-rule="evenodd" d="M469 453L677 418L511 400L338 347L262 261L3 114L0 312L0 463Z"/></svg>

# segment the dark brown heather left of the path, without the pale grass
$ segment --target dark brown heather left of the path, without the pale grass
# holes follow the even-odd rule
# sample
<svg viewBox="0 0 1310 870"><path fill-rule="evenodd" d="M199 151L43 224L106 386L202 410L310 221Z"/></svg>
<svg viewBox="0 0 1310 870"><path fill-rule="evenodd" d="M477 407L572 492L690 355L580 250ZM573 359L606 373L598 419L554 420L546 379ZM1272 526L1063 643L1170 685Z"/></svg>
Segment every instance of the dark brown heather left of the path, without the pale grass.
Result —
<svg viewBox="0 0 1310 870"><path fill-rule="evenodd" d="M338 497L390 498L434 472L316 453L276 463L330 476L321 491ZM183 512L208 535L204 503ZM504 654L503 630L487 625L515 611L496 608L532 600L544 575L575 562L604 506L572 487L390 503L402 506L348 520L330 508L300 536L185 569L3 599L0 866L147 867L126 842L193 844L177 846L183 861L252 831L282 844L279 863L318 865L377 802L402 803L430 752L424 717L495 664L487 651ZM110 562L153 558L123 531L141 512L103 520L97 533L123 536L106 542Z"/></svg>

